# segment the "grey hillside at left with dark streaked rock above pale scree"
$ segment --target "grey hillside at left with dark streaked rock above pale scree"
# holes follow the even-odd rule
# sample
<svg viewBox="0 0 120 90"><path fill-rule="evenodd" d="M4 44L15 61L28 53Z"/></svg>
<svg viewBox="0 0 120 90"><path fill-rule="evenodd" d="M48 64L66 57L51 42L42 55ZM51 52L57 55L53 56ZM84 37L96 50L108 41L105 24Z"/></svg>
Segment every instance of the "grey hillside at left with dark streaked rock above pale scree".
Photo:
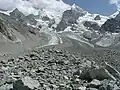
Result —
<svg viewBox="0 0 120 90"><path fill-rule="evenodd" d="M50 36L47 34L44 37L41 36L40 29L29 26L18 19L0 13L0 55L4 53L18 54L29 48L48 43ZM0 58L2 57L0 56Z"/></svg>

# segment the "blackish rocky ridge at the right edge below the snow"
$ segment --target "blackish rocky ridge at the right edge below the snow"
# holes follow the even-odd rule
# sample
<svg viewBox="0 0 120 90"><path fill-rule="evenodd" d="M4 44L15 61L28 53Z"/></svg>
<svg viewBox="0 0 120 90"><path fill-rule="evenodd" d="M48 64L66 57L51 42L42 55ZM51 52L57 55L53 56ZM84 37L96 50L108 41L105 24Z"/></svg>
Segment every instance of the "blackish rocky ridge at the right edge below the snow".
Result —
<svg viewBox="0 0 120 90"><path fill-rule="evenodd" d="M120 32L120 21L116 19L108 19L100 28L101 32Z"/></svg>

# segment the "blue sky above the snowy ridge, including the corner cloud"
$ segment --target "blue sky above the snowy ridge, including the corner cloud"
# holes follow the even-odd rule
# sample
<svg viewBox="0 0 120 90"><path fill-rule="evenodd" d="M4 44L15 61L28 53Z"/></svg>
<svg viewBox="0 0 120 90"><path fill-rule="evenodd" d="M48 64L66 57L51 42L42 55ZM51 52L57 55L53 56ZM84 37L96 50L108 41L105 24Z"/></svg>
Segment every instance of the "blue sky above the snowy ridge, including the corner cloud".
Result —
<svg viewBox="0 0 120 90"><path fill-rule="evenodd" d="M64 0L64 2L69 4L75 2L81 8L91 13L110 15L119 8L120 0Z"/></svg>

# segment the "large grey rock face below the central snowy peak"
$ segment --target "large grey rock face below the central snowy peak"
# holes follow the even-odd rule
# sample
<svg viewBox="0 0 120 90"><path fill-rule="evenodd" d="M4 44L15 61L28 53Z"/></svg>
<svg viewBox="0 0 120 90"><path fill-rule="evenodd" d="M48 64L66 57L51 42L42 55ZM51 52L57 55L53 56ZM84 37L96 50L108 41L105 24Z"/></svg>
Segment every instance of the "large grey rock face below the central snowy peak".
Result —
<svg viewBox="0 0 120 90"><path fill-rule="evenodd" d="M72 8L71 10L66 10L63 13L62 20L58 24L56 30L57 31L64 31L67 26L71 26L72 24L77 23L77 19L80 16L84 16L86 14L81 8Z"/></svg>

